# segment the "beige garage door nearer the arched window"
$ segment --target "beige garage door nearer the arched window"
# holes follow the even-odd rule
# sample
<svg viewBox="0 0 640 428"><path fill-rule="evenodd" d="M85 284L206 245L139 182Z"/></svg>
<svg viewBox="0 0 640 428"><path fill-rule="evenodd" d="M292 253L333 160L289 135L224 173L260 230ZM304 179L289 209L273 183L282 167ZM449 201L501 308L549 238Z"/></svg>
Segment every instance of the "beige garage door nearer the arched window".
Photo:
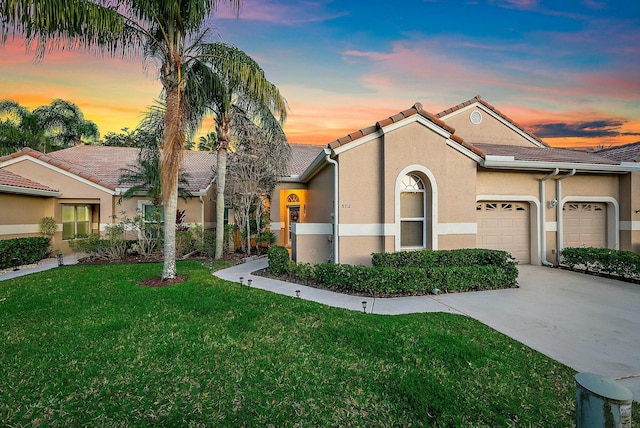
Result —
<svg viewBox="0 0 640 428"><path fill-rule="evenodd" d="M529 204L478 202L476 246L510 252L520 263L531 263Z"/></svg>

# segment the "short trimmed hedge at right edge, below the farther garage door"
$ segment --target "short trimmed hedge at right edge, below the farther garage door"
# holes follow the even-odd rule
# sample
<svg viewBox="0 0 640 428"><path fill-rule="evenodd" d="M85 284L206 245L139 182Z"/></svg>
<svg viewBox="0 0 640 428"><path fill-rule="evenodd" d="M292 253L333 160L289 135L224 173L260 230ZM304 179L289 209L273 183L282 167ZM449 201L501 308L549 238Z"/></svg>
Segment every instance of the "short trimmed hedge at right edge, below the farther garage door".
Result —
<svg viewBox="0 0 640 428"><path fill-rule="evenodd" d="M564 248L560 252L560 264L570 269L615 275L622 278L640 278L640 254L633 251L608 248Z"/></svg>

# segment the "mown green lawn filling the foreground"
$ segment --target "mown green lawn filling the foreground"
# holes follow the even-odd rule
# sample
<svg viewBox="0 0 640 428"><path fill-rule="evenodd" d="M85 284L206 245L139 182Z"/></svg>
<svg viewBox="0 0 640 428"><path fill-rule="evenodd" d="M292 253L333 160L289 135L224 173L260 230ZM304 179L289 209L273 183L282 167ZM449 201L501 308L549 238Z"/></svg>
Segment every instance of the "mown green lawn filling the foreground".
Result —
<svg viewBox="0 0 640 428"><path fill-rule="evenodd" d="M0 282L2 426L572 426L575 372L462 316L382 316L157 264ZM634 411L636 409L634 408Z"/></svg>

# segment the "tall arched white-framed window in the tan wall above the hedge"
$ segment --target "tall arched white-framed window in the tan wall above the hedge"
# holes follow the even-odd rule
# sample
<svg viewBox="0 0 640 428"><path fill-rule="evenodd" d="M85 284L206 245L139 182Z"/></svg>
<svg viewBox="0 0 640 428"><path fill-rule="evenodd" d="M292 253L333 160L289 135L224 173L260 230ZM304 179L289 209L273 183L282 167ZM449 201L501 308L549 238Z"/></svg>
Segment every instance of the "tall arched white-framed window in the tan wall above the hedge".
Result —
<svg viewBox="0 0 640 428"><path fill-rule="evenodd" d="M425 248L426 198L422 179L407 174L400 183L400 247Z"/></svg>

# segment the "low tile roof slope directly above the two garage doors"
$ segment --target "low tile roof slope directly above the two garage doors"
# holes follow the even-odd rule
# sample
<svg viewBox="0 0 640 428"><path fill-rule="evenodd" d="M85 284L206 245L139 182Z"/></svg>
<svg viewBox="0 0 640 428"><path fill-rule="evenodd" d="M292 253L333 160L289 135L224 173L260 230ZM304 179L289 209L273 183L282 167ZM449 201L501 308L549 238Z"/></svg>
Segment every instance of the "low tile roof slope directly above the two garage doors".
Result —
<svg viewBox="0 0 640 428"><path fill-rule="evenodd" d="M514 160L532 162L584 163L595 165L619 165L620 162L606 156L570 149L551 147L505 146L501 144L469 143L479 150L480 156L513 156Z"/></svg>

